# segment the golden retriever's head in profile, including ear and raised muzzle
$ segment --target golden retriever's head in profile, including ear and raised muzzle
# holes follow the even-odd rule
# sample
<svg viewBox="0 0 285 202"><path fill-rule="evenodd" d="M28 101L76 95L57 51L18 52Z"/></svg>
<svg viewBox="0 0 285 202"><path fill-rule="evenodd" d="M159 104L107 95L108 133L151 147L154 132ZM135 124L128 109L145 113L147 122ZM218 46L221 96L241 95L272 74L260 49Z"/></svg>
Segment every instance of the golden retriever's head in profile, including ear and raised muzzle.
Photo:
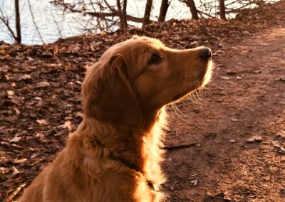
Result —
<svg viewBox="0 0 285 202"><path fill-rule="evenodd" d="M138 127L145 115L205 85L211 68L209 48L177 50L154 38L135 36L106 50L88 69L84 114Z"/></svg>

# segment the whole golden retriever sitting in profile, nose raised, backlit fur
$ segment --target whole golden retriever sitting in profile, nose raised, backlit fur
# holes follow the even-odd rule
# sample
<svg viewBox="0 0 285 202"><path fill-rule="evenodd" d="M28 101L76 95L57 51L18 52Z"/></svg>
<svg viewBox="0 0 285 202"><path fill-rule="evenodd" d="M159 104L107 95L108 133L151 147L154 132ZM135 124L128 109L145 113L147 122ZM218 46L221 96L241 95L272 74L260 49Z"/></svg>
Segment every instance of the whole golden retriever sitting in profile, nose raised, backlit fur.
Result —
<svg viewBox="0 0 285 202"><path fill-rule="evenodd" d="M88 68L83 122L21 202L163 201L165 105L204 86L211 50L134 36Z"/></svg>

